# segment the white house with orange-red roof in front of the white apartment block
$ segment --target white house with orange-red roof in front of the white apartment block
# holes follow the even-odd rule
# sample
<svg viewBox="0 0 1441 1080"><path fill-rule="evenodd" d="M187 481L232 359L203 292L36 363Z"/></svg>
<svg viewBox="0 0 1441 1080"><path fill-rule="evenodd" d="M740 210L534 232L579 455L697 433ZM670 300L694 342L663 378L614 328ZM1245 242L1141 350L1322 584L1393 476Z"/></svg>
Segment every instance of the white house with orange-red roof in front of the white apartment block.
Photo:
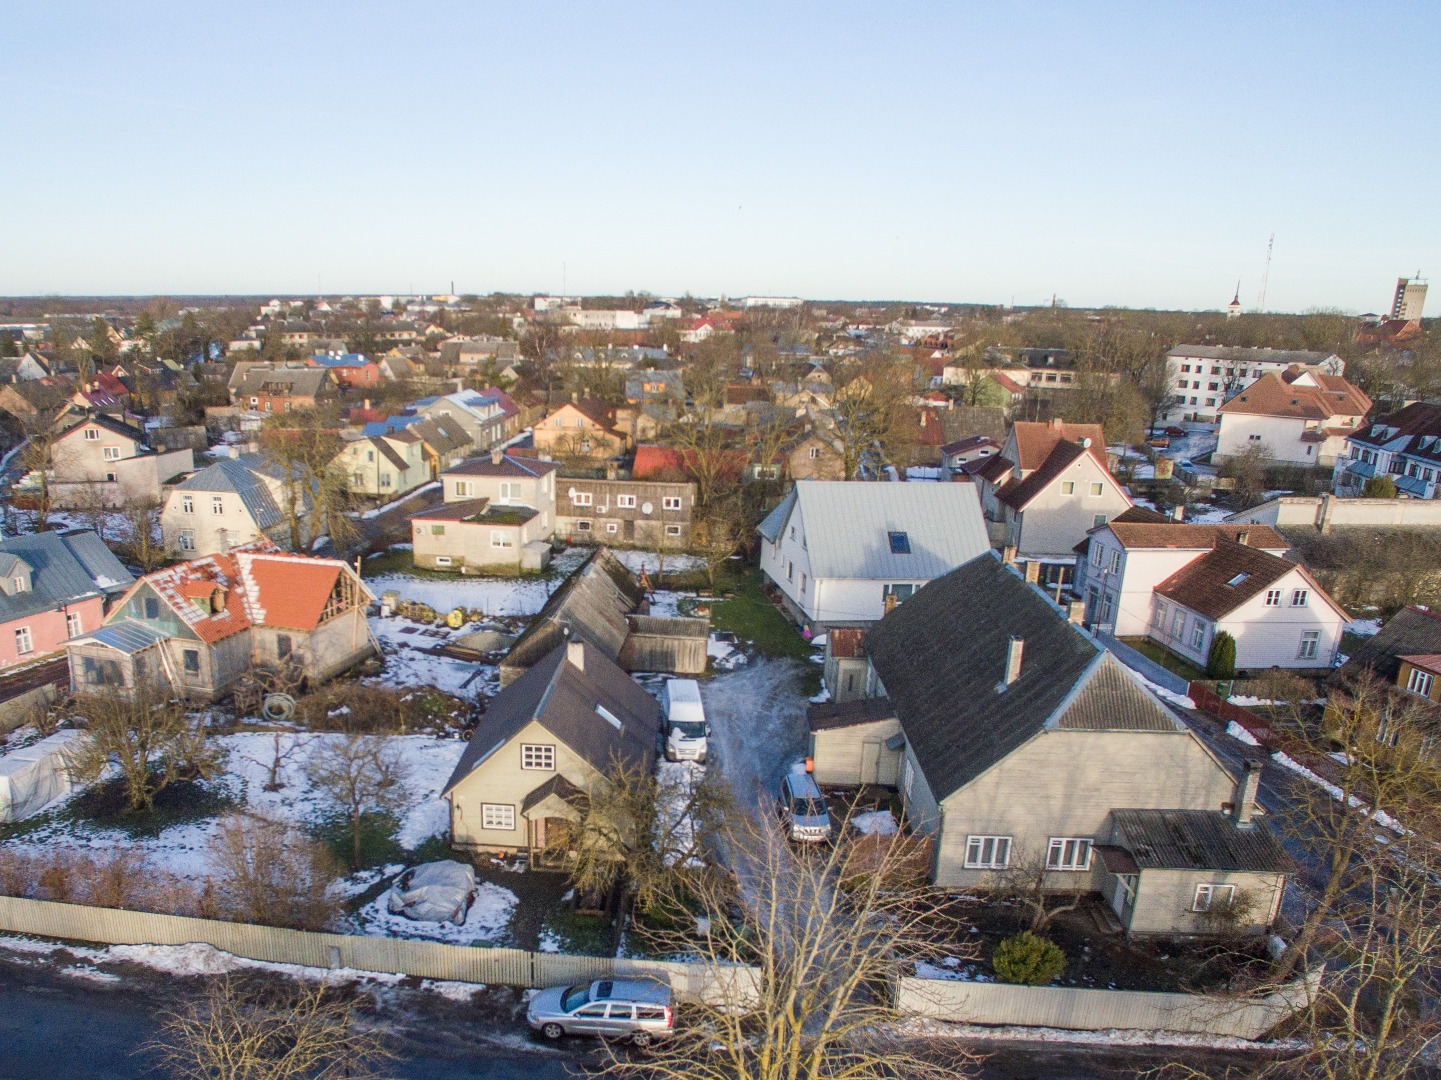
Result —
<svg viewBox="0 0 1441 1080"><path fill-rule="evenodd" d="M1333 466L1370 410L1370 398L1316 368L1267 372L1219 410L1215 460L1262 447L1274 461Z"/></svg>

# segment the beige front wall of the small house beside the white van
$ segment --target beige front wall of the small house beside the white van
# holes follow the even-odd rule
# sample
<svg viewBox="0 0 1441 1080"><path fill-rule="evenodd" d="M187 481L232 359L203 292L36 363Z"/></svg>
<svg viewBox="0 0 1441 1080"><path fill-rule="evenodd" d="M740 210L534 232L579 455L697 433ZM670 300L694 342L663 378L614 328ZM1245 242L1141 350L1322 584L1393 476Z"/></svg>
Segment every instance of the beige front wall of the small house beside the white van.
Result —
<svg viewBox="0 0 1441 1080"><path fill-rule="evenodd" d="M584 792L591 790L597 779L589 761L572 751L536 721L526 727L470 776L455 784L450 793L451 845L455 848L480 848L486 851L525 851L527 846L526 819L520 806L526 796L549 780L555 773L520 767L520 744L540 743L555 747L555 773ZM483 828L483 805L499 803L514 807L516 828Z"/></svg>

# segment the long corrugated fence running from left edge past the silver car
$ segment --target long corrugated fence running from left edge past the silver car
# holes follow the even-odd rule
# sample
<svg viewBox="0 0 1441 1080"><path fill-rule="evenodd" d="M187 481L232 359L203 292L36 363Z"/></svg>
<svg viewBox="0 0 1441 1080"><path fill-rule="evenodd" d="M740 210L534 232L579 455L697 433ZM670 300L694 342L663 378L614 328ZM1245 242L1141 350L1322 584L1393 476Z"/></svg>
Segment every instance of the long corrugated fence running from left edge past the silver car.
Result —
<svg viewBox="0 0 1441 1080"><path fill-rule="evenodd" d="M565 956L523 949L476 949L395 937L324 934L248 923L222 923L150 911L58 904L0 897L0 930L101 944L190 944L200 942L235 956L304 968L353 968L424 979L501 986L555 986L610 976L644 975L670 983L679 998L742 992L754 968L718 968L667 960Z"/></svg>

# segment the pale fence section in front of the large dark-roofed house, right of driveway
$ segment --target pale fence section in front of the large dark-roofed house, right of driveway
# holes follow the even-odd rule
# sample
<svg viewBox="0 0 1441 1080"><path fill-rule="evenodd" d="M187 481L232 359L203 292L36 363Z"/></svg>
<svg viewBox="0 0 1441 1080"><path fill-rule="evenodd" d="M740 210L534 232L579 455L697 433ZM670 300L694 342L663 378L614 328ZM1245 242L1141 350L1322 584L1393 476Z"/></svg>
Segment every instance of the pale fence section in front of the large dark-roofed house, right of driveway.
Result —
<svg viewBox="0 0 1441 1080"><path fill-rule="evenodd" d="M1261 1038L1307 1006L1321 969L1255 998L1147 991L1098 991L1072 986L1012 986L945 979L896 981L895 1006L958 1024L1013 1024L1074 1031L1179 1031Z"/></svg>

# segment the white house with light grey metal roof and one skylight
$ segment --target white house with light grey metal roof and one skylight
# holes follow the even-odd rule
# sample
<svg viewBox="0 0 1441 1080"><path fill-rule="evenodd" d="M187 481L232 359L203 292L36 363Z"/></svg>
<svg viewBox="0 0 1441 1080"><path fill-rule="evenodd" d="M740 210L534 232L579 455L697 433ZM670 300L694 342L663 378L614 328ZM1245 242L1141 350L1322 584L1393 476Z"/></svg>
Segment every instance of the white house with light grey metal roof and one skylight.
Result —
<svg viewBox="0 0 1441 1080"><path fill-rule="evenodd" d="M813 629L873 623L990 548L968 483L800 480L758 531L761 571Z"/></svg>

